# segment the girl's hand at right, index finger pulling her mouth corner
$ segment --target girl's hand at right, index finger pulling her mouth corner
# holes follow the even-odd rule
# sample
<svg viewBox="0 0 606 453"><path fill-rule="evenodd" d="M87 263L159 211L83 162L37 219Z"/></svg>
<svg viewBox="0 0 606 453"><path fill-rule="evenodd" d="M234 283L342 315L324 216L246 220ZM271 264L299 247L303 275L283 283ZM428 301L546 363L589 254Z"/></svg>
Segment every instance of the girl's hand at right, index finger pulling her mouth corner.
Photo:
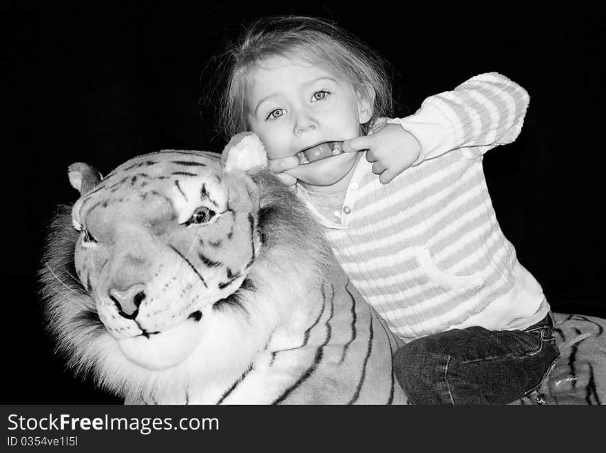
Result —
<svg viewBox="0 0 606 453"><path fill-rule="evenodd" d="M419 159L421 143L399 124L386 124L377 132L343 142L345 152L366 151L373 173L386 184Z"/></svg>

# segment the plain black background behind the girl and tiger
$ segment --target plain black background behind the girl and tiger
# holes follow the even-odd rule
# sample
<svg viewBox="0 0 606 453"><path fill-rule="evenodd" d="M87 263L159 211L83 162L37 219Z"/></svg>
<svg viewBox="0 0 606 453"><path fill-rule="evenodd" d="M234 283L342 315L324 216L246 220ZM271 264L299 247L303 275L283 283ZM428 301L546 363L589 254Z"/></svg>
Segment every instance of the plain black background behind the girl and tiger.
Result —
<svg viewBox="0 0 606 453"><path fill-rule="evenodd" d="M497 217L554 311L606 317L604 15L513 3L450 11L350 3L3 7L0 403L118 401L64 372L43 332L36 270L44 225L55 205L76 199L67 181L74 161L105 174L143 152L220 151L211 103L198 102L213 83L211 56L242 23L266 14L335 19L370 44L393 64L397 116L481 72L526 88L519 138L484 160Z"/></svg>

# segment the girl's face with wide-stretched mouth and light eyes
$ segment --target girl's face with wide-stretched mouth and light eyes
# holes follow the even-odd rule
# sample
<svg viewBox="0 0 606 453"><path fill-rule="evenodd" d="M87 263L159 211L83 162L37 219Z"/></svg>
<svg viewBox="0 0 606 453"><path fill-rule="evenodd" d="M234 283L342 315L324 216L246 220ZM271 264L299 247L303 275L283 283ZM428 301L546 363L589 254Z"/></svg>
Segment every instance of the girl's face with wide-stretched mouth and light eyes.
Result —
<svg viewBox="0 0 606 453"><path fill-rule="evenodd" d="M359 137L372 115L346 79L286 57L271 57L251 73L247 111L269 159L297 155L296 177L312 186L333 185L351 170L357 153L341 152L340 144Z"/></svg>

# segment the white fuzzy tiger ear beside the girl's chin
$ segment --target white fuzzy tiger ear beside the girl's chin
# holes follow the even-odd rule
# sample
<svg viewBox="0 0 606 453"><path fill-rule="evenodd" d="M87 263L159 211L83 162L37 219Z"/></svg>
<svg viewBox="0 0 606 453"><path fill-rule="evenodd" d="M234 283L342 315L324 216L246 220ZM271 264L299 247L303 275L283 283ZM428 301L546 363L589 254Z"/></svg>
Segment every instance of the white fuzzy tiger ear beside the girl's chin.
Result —
<svg viewBox="0 0 606 453"><path fill-rule="evenodd" d="M231 137L221 154L221 163L226 171L248 172L256 167L267 167L267 152L258 135L240 132Z"/></svg>

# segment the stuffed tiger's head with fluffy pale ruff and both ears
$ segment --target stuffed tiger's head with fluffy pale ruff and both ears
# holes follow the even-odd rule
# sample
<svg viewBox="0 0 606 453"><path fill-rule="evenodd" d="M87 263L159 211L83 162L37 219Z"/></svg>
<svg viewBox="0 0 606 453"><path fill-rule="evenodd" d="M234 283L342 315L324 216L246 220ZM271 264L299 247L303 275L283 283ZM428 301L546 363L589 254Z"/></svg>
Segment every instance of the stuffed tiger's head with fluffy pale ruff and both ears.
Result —
<svg viewBox="0 0 606 453"><path fill-rule="evenodd" d="M229 380L309 316L302 294L331 252L266 164L245 134L222 158L145 154L103 179L70 167L81 197L57 217L42 279L73 368L123 396Z"/></svg>

